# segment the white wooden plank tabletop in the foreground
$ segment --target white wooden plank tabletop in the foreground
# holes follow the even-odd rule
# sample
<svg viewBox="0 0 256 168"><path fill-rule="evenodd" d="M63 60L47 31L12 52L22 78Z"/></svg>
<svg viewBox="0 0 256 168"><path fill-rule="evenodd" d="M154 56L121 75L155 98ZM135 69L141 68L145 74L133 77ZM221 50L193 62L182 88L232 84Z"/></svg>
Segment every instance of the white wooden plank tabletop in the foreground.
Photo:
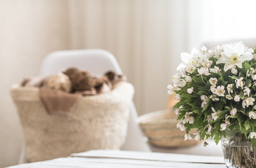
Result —
<svg viewBox="0 0 256 168"><path fill-rule="evenodd" d="M43 162L34 162L12 166L10 168L224 168L224 159L220 156L183 155L172 153L142 153L133 151L88 151L75 153L67 158L58 158Z"/></svg>

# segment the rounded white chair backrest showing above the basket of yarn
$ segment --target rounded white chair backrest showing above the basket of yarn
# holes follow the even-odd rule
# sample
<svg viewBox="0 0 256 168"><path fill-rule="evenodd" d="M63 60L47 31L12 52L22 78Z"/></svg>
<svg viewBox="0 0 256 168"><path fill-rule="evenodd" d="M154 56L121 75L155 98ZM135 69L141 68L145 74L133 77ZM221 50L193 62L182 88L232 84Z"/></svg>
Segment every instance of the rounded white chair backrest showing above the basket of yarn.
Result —
<svg viewBox="0 0 256 168"><path fill-rule="evenodd" d="M100 49L88 49L62 50L50 53L43 60L40 75L49 76L72 66L90 71L95 75L102 75L109 70L122 73L119 64L110 52Z"/></svg>

